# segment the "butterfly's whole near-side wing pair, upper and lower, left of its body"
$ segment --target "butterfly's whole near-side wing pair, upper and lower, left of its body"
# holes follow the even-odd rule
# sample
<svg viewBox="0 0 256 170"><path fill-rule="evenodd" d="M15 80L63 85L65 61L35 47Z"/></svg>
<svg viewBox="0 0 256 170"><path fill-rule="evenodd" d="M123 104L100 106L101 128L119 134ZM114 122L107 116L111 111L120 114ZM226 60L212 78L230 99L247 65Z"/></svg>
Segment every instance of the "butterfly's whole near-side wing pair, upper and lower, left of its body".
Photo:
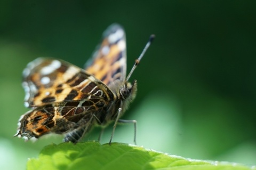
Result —
<svg viewBox="0 0 256 170"><path fill-rule="evenodd" d="M21 116L14 136L25 140L65 133L65 141L76 143L95 120L105 120L106 110L116 99L94 76L73 64L49 58L28 64L23 71L23 87L25 105L34 109Z"/></svg>

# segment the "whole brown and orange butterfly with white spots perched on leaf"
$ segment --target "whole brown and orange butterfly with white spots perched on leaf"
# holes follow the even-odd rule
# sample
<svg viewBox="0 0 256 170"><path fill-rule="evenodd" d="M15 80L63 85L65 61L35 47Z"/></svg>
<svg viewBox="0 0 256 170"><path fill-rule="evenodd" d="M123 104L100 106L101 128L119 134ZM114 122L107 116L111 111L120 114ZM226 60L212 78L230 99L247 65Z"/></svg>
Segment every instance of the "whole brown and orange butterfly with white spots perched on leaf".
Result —
<svg viewBox="0 0 256 170"><path fill-rule="evenodd" d="M123 120L129 104L135 98L137 81L128 80L153 40L126 76L126 40L122 26L113 24L103 33L103 40L85 68L54 58L38 58L23 70L22 86L25 106L30 111L22 115L14 136L25 141L49 134L64 134L63 141L76 143L94 126L105 127L115 122L110 142L118 122Z"/></svg>

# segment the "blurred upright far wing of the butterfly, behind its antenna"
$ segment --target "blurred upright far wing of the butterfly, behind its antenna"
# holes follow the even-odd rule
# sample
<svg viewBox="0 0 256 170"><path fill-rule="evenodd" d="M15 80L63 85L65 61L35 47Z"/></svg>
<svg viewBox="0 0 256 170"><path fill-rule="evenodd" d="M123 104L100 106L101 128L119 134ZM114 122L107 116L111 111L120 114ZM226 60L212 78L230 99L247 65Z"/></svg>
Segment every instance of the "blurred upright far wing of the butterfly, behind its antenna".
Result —
<svg viewBox="0 0 256 170"><path fill-rule="evenodd" d="M121 26L113 24L106 29L101 44L85 64L85 70L110 88L116 82L125 81L126 40Z"/></svg>

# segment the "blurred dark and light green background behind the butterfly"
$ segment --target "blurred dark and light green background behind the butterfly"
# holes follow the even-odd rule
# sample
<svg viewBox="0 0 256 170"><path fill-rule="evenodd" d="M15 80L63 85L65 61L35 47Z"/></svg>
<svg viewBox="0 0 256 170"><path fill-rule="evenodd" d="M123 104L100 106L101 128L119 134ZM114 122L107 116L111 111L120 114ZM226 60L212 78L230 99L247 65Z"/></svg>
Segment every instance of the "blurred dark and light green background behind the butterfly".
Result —
<svg viewBox="0 0 256 170"><path fill-rule="evenodd" d="M1 168L25 169L28 158L62 139L12 138L28 111L21 87L26 64L52 56L83 67L114 22L126 30L128 71L156 35L131 77L138 95L123 117L138 121L138 145L255 165L255 7L255 1L1 1ZM133 125L118 126L113 141L132 143Z"/></svg>

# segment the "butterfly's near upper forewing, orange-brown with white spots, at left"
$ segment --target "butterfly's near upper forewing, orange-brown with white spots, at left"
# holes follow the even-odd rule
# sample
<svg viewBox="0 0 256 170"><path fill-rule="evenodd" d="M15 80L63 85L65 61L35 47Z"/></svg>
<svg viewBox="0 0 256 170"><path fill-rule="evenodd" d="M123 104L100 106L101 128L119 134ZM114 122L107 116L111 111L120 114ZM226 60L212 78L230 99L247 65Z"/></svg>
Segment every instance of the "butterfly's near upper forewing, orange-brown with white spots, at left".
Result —
<svg viewBox="0 0 256 170"><path fill-rule="evenodd" d="M25 106L40 107L58 102L98 99L113 101L109 88L94 76L68 62L38 58L23 71Z"/></svg>

